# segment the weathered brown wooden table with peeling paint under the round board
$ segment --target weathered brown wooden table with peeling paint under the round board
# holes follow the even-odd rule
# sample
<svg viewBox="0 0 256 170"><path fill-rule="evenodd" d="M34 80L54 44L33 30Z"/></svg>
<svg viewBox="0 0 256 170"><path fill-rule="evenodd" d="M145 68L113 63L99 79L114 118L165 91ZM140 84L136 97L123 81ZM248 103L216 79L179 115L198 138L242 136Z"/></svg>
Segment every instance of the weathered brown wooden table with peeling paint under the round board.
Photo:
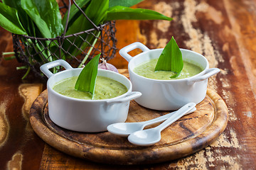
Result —
<svg viewBox="0 0 256 170"><path fill-rule="evenodd" d="M164 47L174 36L181 48L205 55L221 72L208 86L225 101L228 126L218 140L196 154L171 162L113 166L77 159L47 145L28 120L30 106L46 82L29 76L16 60L0 60L0 169L255 169L256 166L256 1L146 0L174 21L117 21L117 47L139 41ZM12 51L11 34L0 30L1 52ZM132 52L136 55L138 51ZM110 61L121 72L127 62Z"/></svg>

